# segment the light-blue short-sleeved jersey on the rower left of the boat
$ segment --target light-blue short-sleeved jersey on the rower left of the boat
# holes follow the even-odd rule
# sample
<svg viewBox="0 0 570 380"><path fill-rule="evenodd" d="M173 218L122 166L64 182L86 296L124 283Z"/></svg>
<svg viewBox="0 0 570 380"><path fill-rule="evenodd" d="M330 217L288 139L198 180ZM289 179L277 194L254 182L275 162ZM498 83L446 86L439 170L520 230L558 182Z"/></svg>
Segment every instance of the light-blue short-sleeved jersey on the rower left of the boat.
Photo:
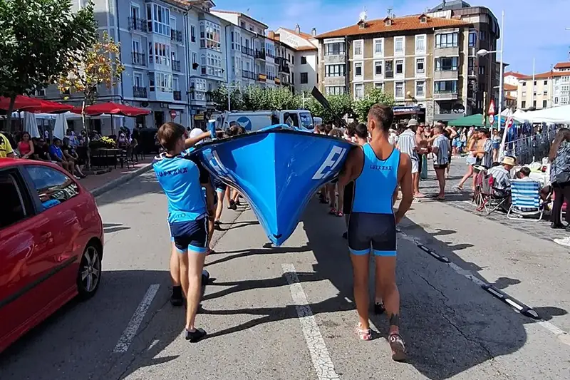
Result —
<svg viewBox="0 0 570 380"><path fill-rule="evenodd" d="M152 168L168 199L168 222L189 222L206 214L199 168L192 160L162 153L152 161Z"/></svg>

